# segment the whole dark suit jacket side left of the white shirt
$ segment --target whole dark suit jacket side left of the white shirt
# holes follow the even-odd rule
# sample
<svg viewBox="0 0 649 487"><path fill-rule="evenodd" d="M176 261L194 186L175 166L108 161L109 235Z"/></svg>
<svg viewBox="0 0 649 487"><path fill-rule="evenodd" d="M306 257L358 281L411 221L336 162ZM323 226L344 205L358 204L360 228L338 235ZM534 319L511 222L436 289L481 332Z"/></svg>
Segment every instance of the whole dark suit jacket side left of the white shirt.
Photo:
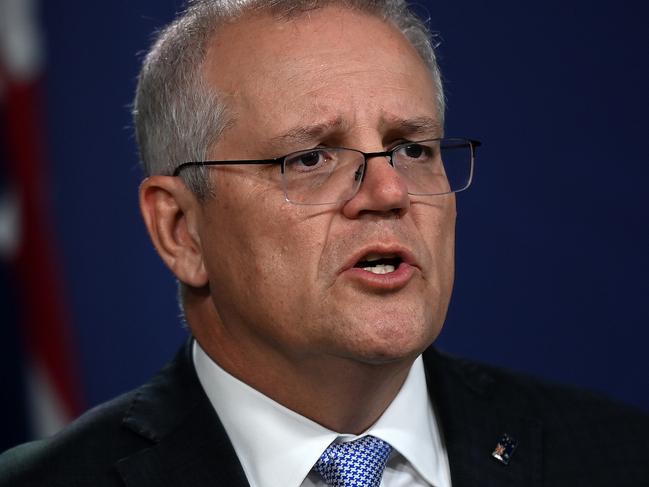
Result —
<svg viewBox="0 0 649 487"><path fill-rule="evenodd" d="M192 339L148 383L59 434L0 456L0 487L236 485L245 479L191 359Z"/></svg>

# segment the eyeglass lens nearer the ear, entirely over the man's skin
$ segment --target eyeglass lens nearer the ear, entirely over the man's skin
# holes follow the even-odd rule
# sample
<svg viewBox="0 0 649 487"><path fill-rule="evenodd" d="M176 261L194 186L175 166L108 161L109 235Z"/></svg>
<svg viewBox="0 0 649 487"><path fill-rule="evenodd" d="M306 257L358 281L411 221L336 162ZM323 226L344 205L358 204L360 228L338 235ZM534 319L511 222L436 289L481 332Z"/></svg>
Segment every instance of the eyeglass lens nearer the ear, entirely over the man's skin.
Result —
<svg viewBox="0 0 649 487"><path fill-rule="evenodd" d="M292 203L329 204L350 199L361 183L363 155L338 148L296 152L284 159L284 192Z"/></svg>

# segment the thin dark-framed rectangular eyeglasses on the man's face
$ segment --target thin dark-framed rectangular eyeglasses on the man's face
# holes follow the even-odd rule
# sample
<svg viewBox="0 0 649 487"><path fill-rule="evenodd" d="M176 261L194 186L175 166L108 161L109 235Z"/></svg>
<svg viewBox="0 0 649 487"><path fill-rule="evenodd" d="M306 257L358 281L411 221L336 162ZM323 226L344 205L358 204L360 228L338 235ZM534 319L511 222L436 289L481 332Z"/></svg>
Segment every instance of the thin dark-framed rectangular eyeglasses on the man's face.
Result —
<svg viewBox="0 0 649 487"><path fill-rule="evenodd" d="M405 182L408 194L433 196L469 187L476 148L480 145L477 140L444 138L406 142L383 152L316 147L275 159L185 162L176 167L173 175L195 166L278 164L287 201L326 205L352 199L367 173L367 161L385 157Z"/></svg>

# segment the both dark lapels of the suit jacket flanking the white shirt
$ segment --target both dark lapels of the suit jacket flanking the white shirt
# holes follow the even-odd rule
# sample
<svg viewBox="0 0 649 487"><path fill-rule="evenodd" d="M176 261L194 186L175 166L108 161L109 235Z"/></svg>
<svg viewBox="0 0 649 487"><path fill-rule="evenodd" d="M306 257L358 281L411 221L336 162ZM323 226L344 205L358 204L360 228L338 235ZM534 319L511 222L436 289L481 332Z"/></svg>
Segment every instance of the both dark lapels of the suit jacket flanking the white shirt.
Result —
<svg viewBox="0 0 649 487"><path fill-rule="evenodd" d="M499 397L495 376L482 366L433 348L424 353L424 365L453 487L540 486L540 422L508 408L511 398ZM127 486L249 485L196 376L191 339L167 367L137 390L123 425L150 443L117 462ZM504 433L518 443L508 465L491 456Z"/></svg>

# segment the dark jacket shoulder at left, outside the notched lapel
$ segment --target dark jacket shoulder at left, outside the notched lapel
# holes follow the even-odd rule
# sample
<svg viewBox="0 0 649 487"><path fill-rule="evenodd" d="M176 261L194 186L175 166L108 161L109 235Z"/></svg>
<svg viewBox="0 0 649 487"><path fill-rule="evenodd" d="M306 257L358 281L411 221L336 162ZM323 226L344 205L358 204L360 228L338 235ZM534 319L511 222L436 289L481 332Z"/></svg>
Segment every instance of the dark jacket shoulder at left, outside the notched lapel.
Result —
<svg viewBox="0 0 649 487"><path fill-rule="evenodd" d="M112 485L114 463L146 446L123 425L135 394L91 409L50 438L0 455L0 486Z"/></svg>

